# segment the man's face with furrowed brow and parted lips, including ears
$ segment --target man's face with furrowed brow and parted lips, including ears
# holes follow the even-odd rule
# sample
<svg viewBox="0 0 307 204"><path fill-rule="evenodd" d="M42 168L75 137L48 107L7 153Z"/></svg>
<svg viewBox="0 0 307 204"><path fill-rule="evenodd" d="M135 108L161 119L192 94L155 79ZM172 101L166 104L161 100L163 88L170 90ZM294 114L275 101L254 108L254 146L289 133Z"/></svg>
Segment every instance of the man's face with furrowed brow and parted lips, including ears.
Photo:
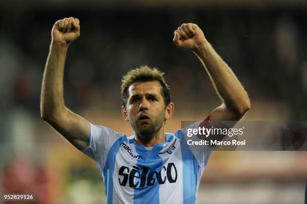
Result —
<svg viewBox="0 0 307 204"><path fill-rule="evenodd" d="M158 81L136 82L129 86L126 108L123 116L130 121L131 127L144 142L152 139L154 134L170 118L173 109L165 106L161 94L162 86Z"/></svg>

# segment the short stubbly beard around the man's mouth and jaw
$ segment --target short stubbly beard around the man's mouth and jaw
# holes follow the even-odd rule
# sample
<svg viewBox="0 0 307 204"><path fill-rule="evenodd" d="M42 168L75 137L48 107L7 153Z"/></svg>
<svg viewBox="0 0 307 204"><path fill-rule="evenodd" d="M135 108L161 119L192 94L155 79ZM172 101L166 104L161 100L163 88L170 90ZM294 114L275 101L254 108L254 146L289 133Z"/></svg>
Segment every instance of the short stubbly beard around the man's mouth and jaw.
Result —
<svg viewBox="0 0 307 204"><path fill-rule="evenodd" d="M133 117L132 120L130 118L130 124L135 134L140 137L143 142L147 143L154 138L155 133L162 128L165 122L165 112L161 111L156 117L145 112L142 114L146 114L149 117L147 122L142 122L138 117Z"/></svg>

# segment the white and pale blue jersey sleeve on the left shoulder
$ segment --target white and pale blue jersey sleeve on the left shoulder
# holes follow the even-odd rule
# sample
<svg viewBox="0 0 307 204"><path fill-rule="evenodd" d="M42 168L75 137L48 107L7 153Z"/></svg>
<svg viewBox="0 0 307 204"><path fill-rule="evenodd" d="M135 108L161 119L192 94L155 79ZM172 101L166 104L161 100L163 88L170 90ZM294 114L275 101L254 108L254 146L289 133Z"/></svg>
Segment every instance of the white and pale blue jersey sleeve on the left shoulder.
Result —
<svg viewBox="0 0 307 204"><path fill-rule="evenodd" d="M102 171L107 157L107 151L114 141L119 138L121 133L116 133L108 127L93 125L91 123L89 123L89 126L89 144L81 151L93 159L99 171Z"/></svg>

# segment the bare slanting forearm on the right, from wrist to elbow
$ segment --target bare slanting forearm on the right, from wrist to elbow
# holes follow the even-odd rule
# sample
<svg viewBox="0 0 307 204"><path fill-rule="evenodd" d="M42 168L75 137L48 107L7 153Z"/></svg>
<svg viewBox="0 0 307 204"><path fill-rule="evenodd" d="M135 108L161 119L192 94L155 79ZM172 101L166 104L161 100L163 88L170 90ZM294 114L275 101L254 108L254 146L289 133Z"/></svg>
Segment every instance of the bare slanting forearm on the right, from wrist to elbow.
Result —
<svg viewBox="0 0 307 204"><path fill-rule="evenodd" d="M232 70L215 52L210 43L199 46L195 54L203 63L226 108L244 114L250 107L248 95Z"/></svg>

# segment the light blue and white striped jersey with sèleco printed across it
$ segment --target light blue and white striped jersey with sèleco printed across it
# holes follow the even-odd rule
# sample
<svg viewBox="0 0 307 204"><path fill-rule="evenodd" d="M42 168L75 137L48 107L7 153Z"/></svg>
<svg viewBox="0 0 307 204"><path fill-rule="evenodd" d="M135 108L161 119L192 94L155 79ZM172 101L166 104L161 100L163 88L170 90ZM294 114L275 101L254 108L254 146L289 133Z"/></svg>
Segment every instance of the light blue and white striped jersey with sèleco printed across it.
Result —
<svg viewBox="0 0 307 204"><path fill-rule="evenodd" d="M187 128L198 128L200 123ZM165 142L146 150L134 136L90 124L89 145L82 152L97 164L107 203L195 203L213 148L187 150L187 128L175 135L165 133Z"/></svg>

